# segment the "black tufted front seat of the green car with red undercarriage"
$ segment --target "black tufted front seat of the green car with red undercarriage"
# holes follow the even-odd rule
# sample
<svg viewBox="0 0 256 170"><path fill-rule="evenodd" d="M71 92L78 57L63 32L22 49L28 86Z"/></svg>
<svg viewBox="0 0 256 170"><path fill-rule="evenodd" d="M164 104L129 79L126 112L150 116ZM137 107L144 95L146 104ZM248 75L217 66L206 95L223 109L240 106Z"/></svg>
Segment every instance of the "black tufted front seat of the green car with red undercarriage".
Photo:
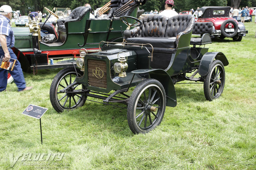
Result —
<svg viewBox="0 0 256 170"><path fill-rule="evenodd" d="M83 19L85 14L90 12L90 10L91 10L90 7L80 6L80 7L75 8L67 18L58 19L57 20L58 31L66 32L65 23L73 22L73 21L80 21L81 19Z"/></svg>

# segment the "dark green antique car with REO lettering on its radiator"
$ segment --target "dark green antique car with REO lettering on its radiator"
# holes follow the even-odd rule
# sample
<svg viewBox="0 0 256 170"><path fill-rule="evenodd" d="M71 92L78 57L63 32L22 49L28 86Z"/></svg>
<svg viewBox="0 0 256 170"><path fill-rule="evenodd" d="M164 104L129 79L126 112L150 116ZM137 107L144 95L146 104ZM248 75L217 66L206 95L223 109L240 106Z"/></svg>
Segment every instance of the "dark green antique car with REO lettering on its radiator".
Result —
<svg viewBox="0 0 256 170"><path fill-rule="evenodd" d="M207 23L195 23L192 15L166 18L148 15L128 25L122 43L101 42L99 52L80 50L76 65L64 68L53 79L50 101L57 112L73 110L92 98L106 105L127 105L128 125L133 133L147 133L160 125L166 106L177 105L175 83L204 83L204 95L212 101L224 90L228 60L221 52L208 52L211 37ZM135 28L129 30L130 27ZM202 37L193 37L197 28ZM102 46L102 44L104 44ZM134 91L126 93L131 87ZM90 97L90 98L89 98Z"/></svg>

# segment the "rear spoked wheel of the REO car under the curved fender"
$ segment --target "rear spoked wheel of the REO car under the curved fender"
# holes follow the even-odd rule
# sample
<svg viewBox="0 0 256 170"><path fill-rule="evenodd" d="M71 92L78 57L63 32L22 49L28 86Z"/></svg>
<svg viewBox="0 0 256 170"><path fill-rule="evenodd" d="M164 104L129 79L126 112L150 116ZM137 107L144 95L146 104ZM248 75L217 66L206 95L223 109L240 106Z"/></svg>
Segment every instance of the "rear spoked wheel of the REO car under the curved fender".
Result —
<svg viewBox="0 0 256 170"><path fill-rule="evenodd" d="M220 80L220 82L218 81ZM221 96L225 85L225 69L222 62L218 59L211 64L209 73L204 79L204 96L212 101Z"/></svg>

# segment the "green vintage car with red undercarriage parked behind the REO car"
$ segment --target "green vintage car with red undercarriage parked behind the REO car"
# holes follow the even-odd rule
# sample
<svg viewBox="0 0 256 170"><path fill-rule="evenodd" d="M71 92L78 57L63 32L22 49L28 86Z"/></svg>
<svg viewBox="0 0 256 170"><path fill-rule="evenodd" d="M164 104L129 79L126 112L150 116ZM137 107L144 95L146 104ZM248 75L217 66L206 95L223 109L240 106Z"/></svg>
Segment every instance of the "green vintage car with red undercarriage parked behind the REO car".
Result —
<svg viewBox="0 0 256 170"><path fill-rule="evenodd" d="M122 32L127 26L119 20L119 17L123 14L136 17L138 6L145 3L143 1L145 0L129 0L127 3L119 3L119 6L113 8L111 5L115 5L115 3L110 1L102 7L103 10L95 18L90 17L92 10L90 7L80 6L75 8L68 17L59 18L50 26L46 24L50 15L57 18L58 15L47 9L50 15L44 23L38 24L29 20L27 27L12 28L15 35L13 51L25 72L36 69L70 67L72 66L70 62L54 62L51 65L49 60L76 58L80 48L85 48L88 53L97 52L103 45L99 46L99 42L102 40L122 42ZM102 17L108 11L108 16ZM52 34L55 39L44 41L49 35L45 32Z"/></svg>

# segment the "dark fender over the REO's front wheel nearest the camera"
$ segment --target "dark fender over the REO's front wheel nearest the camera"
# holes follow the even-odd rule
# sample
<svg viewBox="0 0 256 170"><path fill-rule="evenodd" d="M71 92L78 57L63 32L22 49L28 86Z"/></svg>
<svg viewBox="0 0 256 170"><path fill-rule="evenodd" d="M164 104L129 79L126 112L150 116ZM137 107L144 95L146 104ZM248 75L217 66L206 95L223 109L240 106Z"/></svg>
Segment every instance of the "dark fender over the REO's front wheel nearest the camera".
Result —
<svg viewBox="0 0 256 170"><path fill-rule="evenodd" d="M140 69L131 71L134 74L149 74L152 79L158 80L166 92L166 106L175 107L177 105L175 87L171 77L162 69Z"/></svg>

